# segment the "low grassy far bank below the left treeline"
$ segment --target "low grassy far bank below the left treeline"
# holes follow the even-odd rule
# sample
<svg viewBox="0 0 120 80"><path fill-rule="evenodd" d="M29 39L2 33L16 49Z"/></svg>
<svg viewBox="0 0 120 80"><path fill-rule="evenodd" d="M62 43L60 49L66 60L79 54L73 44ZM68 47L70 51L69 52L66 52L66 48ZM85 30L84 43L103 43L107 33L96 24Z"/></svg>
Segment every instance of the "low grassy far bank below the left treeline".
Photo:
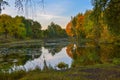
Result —
<svg viewBox="0 0 120 80"><path fill-rule="evenodd" d="M68 38L53 38L53 39L30 39L30 40L12 40L6 42L0 42L0 47L14 47L14 46L26 46L26 45L50 45L51 43L68 43Z"/></svg>

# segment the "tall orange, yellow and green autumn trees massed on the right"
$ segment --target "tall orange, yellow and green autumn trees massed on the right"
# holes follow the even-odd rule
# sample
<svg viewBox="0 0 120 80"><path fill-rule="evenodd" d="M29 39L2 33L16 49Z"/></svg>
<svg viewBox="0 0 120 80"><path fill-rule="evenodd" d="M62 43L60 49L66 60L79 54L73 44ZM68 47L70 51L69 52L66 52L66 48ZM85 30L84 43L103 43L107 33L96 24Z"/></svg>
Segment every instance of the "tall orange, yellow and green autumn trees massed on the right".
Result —
<svg viewBox="0 0 120 80"><path fill-rule="evenodd" d="M93 10L78 13L66 26L67 34L79 45L84 39L100 42L120 42L120 1L92 0Z"/></svg>

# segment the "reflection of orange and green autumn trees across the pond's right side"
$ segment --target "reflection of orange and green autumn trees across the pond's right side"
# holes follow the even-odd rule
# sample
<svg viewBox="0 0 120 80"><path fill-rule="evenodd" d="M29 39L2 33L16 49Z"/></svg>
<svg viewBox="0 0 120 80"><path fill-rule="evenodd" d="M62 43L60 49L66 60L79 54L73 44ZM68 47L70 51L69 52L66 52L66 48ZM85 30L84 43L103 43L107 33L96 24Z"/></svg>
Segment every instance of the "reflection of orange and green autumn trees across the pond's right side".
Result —
<svg viewBox="0 0 120 80"><path fill-rule="evenodd" d="M70 44L66 49L67 54L73 59L72 67L111 63L114 58L120 58L119 46L100 45L100 47L77 47Z"/></svg>

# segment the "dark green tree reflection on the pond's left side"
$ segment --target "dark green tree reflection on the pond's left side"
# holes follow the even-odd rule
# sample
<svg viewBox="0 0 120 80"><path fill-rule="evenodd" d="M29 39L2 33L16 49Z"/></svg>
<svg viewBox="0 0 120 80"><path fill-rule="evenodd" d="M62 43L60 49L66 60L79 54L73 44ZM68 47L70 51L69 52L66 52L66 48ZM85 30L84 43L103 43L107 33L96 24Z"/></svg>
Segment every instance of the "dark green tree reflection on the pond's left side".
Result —
<svg viewBox="0 0 120 80"><path fill-rule="evenodd" d="M33 60L41 56L40 48L6 48L0 49L0 69L8 69L14 63L16 65L24 65L27 61Z"/></svg>

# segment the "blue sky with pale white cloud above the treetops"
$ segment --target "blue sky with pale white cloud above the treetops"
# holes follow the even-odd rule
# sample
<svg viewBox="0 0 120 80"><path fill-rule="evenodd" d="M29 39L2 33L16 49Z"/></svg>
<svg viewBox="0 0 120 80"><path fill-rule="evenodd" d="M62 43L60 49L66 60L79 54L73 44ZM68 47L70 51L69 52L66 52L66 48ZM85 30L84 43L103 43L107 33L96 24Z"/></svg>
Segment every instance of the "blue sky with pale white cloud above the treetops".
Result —
<svg viewBox="0 0 120 80"><path fill-rule="evenodd" d="M33 1L37 2L38 0ZM2 13L11 16L25 15L24 12L20 13L16 10L14 0L9 0L9 2L11 6L6 7ZM37 3L36 5L39 5ZM36 8L28 8L27 15L28 18L40 22L43 29L47 28L52 21L65 28L71 16L92 9L91 0L45 0L44 3L44 10L41 5L36 6Z"/></svg>

